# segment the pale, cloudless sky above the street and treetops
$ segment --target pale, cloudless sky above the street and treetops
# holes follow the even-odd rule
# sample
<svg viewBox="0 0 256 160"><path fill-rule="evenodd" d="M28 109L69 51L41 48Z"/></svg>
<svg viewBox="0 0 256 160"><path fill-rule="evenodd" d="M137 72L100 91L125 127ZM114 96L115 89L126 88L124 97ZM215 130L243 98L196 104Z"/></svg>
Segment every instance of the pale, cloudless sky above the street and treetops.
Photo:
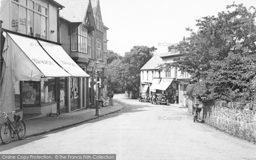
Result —
<svg viewBox="0 0 256 160"><path fill-rule="evenodd" d="M197 32L196 19L217 15L235 2L247 8L256 0L100 0L102 21L108 26L108 50L125 55L133 46L156 47L155 54Z"/></svg>

